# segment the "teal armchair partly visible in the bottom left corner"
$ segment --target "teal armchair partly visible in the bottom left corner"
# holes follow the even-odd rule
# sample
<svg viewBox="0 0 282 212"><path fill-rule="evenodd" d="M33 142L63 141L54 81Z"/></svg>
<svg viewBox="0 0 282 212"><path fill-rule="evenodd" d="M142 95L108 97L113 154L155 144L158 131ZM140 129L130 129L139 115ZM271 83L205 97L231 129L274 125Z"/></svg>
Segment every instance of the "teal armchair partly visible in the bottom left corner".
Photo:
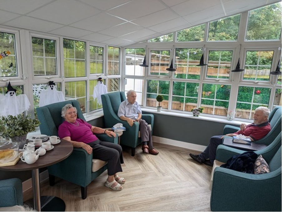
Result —
<svg viewBox="0 0 282 212"><path fill-rule="evenodd" d="M22 181L18 178L0 180L0 194L0 207L22 205Z"/></svg>

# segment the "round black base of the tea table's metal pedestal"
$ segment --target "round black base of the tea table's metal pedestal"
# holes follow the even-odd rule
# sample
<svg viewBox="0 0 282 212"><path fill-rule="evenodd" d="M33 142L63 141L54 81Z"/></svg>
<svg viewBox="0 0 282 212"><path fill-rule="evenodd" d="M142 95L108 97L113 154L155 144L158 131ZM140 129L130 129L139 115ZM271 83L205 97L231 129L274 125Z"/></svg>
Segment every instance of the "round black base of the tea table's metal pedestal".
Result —
<svg viewBox="0 0 282 212"><path fill-rule="evenodd" d="M64 200L55 196L41 196L41 211L65 211L66 204ZM33 199L29 199L24 204L33 208Z"/></svg>

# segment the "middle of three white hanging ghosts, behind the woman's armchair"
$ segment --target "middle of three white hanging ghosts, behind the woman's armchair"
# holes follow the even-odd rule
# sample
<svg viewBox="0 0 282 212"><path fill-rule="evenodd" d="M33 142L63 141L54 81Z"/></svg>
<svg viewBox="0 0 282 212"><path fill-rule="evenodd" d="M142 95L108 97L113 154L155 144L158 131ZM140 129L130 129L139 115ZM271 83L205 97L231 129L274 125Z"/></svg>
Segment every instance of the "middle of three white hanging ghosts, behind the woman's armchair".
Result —
<svg viewBox="0 0 282 212"><path fill-rule="evenodd" d="M57 91L54 81L49 81L46 90L40 92L39 107L65 101L63 92Z"/></svg>

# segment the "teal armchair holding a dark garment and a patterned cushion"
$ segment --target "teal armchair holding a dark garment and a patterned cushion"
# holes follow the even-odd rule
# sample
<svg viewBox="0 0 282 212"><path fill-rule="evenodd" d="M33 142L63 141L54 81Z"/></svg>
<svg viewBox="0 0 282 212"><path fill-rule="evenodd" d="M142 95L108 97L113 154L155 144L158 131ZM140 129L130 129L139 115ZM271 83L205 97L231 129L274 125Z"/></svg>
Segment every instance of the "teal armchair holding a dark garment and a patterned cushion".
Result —
<svg viewBox="0 0 282 212"><path fill-rule="evenodd" d="M243 152L219 145L216 161L226 163L233 155ZM214 169L212 211L281 211L281 132L269 146L255 153L261 154L268 163L269 173L247 174L222 167Z"/></svg>

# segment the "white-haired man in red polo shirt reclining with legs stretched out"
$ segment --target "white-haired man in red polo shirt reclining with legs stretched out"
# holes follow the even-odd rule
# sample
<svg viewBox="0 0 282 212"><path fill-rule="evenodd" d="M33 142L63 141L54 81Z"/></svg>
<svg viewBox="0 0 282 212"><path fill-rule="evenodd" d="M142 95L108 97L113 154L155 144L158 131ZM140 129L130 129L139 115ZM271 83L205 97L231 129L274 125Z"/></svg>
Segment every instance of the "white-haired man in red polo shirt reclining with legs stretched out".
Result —
<svg viewBox="0 0 282 212"><path fill-rule="evenodd" d="M258 107L255 109L254 122L252 124L241 124L240 130L238 130L236 133L212 136L209 145L201 154L195 155L190 153L190 157L200 164L204 163L206 165L213 166L213 161L216 157L216 148L219 144L222 144L222 139L224 136L233 137L242 134L247 138L250 138L251 141L259 140L265 137L265 135L267 135L271 130L268 116L269 109L267 107Z"/></svg>

